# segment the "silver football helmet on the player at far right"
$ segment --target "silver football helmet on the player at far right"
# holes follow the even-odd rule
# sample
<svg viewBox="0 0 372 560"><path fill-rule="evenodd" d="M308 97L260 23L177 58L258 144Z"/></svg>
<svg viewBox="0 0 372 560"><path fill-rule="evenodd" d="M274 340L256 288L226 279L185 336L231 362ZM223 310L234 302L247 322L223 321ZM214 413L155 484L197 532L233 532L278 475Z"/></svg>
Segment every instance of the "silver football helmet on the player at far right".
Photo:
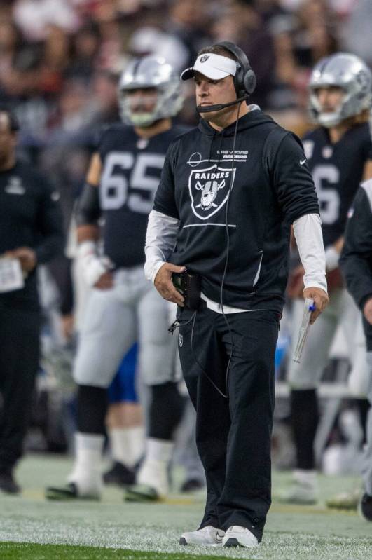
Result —
<svg viewBox="0 0 372 560"><path fill-rule="evenodd" d="M336 111L322 112L318 88L336 86L345 92ZM368 66L356 55L336 53L320 60L312 71L309 111L312 121L322 126L338 125L345 118L371 107L372 77Z"/></svg>

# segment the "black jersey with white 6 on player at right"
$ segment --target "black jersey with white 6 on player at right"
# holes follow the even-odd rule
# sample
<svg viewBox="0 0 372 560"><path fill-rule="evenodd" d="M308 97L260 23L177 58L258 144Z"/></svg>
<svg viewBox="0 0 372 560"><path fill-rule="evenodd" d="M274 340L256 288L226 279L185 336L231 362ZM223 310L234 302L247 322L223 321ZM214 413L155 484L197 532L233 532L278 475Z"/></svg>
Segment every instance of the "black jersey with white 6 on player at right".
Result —
<svg viewBox="0 0 372 560"><path fill-rule="evenodd" d="M363 177L364 164L372 159L371 132L368 123L363 123L331 144L328 130L317 128L305 135L303 147L317 189L327 247L345 231L347 211Z"/></svg>

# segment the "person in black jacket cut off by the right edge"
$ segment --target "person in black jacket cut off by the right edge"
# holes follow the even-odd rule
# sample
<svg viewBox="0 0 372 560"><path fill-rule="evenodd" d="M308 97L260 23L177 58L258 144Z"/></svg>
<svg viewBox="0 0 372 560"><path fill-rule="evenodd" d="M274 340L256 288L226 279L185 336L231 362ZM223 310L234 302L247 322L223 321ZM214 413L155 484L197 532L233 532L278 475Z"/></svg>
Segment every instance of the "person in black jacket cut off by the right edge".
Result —
<svg viewBox="0 0 372 560"><path fill-rule="evenodd" d="M361 183L349 212L340 258L347 289L363 314L370 367L368 400L372 404L372 179ZM368 412L367 443L362 465L364 494L359 510L372 521L372 410Z"/></svg>

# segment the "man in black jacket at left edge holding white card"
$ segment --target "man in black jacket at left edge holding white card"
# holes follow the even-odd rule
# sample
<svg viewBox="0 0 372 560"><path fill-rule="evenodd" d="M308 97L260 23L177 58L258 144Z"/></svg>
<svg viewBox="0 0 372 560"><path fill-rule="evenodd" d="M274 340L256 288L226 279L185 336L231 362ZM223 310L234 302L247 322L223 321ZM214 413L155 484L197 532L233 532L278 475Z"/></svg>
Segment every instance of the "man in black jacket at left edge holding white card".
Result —
<svg viewBox="0 0 372 560"><path fill-rule="evenodd" d="M36 266L63 248L58 193L15 156L18 125L0 109L0 489L17 493L13 467L22 455L39 366Z"/></svg>

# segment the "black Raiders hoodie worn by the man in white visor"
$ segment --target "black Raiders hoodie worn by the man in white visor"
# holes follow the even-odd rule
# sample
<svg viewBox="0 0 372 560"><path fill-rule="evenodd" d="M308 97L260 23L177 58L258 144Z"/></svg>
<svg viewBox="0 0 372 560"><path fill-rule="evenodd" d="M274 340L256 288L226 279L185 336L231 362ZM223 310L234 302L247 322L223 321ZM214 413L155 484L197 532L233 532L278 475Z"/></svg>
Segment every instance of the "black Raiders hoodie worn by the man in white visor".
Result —
<svg viewBox="0 0 372 560"><path fill-rule="evenodd" d="M290 225L319 214L315 187L291 132L260 110L236 137L235 124L216 132L201 119L170 145L153 208L179 219L169 261L200 274L203 294L220 301L227 258L223 303L281 311Z"/></svg>

